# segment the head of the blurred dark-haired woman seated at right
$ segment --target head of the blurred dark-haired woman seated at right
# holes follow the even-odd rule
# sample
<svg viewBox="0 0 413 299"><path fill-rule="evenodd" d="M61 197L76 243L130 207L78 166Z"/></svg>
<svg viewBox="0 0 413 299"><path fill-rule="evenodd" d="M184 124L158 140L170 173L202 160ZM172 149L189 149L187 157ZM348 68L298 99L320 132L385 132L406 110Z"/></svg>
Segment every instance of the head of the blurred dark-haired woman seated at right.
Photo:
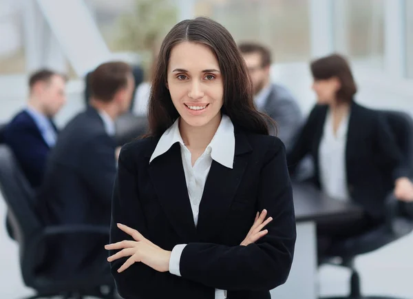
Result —
<svg viewBox="0 0 413 299"><path fill-rule="evenodd" d="M313 90L321 104L351 103L357 92L348 61L339 54L316 59L310 64Z"/></svg>

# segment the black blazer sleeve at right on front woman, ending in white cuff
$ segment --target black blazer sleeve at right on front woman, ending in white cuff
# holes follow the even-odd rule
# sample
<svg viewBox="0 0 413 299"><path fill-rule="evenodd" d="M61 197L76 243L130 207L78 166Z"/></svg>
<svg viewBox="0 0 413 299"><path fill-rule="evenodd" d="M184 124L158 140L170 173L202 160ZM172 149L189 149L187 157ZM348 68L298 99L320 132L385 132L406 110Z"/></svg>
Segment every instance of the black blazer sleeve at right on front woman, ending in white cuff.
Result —
<svg viewBox="0 0 413 299"><path fill-rule="evenodd" d="M296 231L285 149L278 138L266 153L259 190L257 207L273 217L268 234L248 246L189 243L180 258L182 277L229 291L268 291L286 282Z"/></svg>

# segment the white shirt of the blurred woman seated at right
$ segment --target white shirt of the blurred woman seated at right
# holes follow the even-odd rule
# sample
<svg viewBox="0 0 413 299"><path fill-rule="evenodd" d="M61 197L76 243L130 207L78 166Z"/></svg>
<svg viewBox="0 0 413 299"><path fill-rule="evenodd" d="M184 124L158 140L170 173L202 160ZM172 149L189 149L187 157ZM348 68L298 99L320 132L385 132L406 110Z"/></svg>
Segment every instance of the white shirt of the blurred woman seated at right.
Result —
<svg viewBox="0 0 413 299"><path fill-rule="evenodd" d="M349 114L333 131L332 115L327 112L324 134L319 145L319 170L321 189L331 198L349 200L346 172L346 144Z"/></svg>

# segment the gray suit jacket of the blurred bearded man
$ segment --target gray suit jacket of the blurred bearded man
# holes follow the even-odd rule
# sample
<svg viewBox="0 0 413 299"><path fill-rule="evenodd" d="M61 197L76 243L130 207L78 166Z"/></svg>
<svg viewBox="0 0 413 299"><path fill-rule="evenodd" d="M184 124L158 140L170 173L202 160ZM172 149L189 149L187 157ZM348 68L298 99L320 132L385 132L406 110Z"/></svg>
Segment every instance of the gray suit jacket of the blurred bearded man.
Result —
<svg viewBox="0 0 413 299"><path fill-rule="evenodd" d="M273 83L261 110L277 123L277 136L284 142L288 152L304 121L297 101L285 87Z"/></svg>

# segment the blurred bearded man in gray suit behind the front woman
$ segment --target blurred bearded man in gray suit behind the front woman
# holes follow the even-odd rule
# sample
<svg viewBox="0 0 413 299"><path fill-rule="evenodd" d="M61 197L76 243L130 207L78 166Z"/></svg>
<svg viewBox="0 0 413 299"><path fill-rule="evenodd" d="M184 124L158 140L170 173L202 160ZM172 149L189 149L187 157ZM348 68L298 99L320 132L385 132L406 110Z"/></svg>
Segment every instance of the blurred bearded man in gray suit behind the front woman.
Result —
<svg viewBox="0 0 413 299"><path fill-rule="evenodd" d="M285 87L271 83L271 52L268 48L259 43L241 43L239 49L253 81L255 105L277 123L277 136L288 151L303 121L297 101Z"/></svg>

